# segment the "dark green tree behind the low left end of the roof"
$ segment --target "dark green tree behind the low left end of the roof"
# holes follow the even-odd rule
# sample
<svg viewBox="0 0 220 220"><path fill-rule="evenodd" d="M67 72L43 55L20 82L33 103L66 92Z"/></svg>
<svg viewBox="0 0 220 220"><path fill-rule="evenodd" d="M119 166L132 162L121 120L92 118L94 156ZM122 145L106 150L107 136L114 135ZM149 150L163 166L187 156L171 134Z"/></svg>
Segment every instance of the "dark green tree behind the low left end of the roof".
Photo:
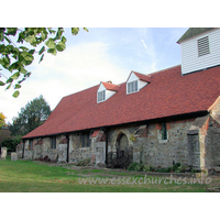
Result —
<svg viewBox="0 0 220 220"><path fill-rule="evenodd" d="M9 129L12 135L25 135L37 127L51 114L51 108L43 96L28 102L25 108L21 108L18 118L13 118Z"/></svg>

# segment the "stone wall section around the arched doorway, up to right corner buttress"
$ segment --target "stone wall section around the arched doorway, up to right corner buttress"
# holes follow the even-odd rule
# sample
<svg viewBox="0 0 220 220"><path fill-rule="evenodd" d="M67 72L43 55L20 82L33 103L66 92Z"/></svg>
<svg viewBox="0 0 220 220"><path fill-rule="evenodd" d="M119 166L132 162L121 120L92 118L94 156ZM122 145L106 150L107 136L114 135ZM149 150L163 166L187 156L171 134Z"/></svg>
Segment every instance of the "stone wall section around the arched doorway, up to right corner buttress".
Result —
<svg viewBox="0 0 220 220"><path fill-rule="evenodd" d="M147 135L136 136L143 124L133 128L114 129L109 132L109 153L117 154L117 138L124 133L129 147L133 148L133 162L141 161L146 165L168 167L175 163L188 165L187 133L195 119L167 122L167 140L161 138L161 123L146 124Z"/></svg>

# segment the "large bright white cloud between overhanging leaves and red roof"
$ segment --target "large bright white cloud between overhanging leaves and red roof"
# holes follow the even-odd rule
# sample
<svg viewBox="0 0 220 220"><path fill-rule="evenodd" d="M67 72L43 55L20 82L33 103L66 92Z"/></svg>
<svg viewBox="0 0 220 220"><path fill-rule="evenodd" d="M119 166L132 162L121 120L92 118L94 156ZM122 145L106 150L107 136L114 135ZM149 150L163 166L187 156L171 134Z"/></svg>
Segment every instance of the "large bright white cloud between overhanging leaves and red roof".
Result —
<svg viewBox="0 0 220 220"><path fill-rule="evenodd" d="M0 90L0 112L11 122L28 101L40 95L43 95L54 109L64 96L87 89L100 81L125 81L130 70L111 61L108 45L103 43L78 44L56 56L46 54L41 64L38 61L33 63L32 75L23 82L19 98L11 97L13 89L7 92Z"/></svg>

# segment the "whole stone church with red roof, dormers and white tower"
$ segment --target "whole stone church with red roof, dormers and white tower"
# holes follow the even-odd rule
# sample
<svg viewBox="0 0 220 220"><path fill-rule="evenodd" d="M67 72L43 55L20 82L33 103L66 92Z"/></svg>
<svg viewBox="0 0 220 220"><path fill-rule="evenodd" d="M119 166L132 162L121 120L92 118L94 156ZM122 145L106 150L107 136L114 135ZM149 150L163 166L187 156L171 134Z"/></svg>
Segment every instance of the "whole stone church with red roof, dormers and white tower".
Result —
<svg viewBox="0 0 220 220"><path fill-rule="evenodd" d="M64 97L22 138L20 157L220 169L220 29L188 29L177 43L178 66Z"/></svg>

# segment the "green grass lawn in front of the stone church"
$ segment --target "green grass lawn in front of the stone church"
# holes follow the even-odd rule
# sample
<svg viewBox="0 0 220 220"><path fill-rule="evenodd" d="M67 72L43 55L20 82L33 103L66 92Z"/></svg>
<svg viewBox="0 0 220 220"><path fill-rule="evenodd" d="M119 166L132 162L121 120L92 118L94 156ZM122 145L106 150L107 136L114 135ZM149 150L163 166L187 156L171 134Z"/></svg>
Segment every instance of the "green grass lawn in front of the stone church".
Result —
<svg viewBox="0 0 220 220"><path fill-rule="evenodd" d="M207 184L158 184L162 177L150 177L152 183L143 183L143 174L114 172L112 169L73 169L70 165L57 166L32 161L11 162L10 157L0 161L1 193L172 193L172 191L206 191ZM88 183L90 179L106 179L107 184ZM128 182L129 178L135 182ZM80 184L79 178L87 180ZM123 178L123 182L122 182ZM142 178L142 179L140 179ZM120 180L120 184L119 184ZM141 184L135 184L135 183ZM129 184L125 184L129 183ZM156 184L155 184L156 183Z"/></svg>

